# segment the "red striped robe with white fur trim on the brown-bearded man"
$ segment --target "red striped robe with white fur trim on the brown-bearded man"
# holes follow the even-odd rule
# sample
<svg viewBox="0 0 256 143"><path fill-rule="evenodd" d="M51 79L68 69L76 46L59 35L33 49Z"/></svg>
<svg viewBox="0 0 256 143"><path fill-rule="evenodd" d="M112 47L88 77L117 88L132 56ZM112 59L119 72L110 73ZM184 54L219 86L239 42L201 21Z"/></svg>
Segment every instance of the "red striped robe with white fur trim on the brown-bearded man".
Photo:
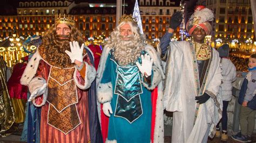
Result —
<svg viewBox="0 0 256 143"><path fill-rule="evenodd" d="M89 113L92 112L93 109L95 112L96 109L96 98L93 98L95 96L95 91L92 91L95 90L94 81L96 70L92 66L92 53L87 47L85 49L87 51L87 54L85 54L83 58L84 66L86 66L85 78L82 78L76 67L73 72L73 81L76 84L78 99L78 102L75 105L82 124L79 124L67 134L49 125L49 103L46 101L47 97L50 95L48 95L48 91L46 89L46 92L42 96L38 96L32 101L35 106L42 106L40 142L102 142L100 128L98 126L98 115L95 113ZM52 65L49 65L44 59L42 59L42 56L37 51L29 61L21 78L21 83L23 85L28 85L30 92L32 93L33 90L41 88L44 83L47 83L46 81L48 81L51 67ZM39 77L35 75L39 75ZM90 87L93 87L93 89Z"/></svg>

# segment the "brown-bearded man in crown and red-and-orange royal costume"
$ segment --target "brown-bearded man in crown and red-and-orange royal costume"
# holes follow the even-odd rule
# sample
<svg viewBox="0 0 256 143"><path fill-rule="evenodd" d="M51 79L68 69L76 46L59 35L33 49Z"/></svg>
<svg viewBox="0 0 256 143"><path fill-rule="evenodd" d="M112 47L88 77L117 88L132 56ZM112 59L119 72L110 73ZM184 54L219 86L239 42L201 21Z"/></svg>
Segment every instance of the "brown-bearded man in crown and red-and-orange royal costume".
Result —
<svg viewBox="0 0 256 143"><path fill-rule="evenodd" d="M102 142L93 57L74 25L56 15L21 78L28 101L42 107L40 142Z"/></svg>

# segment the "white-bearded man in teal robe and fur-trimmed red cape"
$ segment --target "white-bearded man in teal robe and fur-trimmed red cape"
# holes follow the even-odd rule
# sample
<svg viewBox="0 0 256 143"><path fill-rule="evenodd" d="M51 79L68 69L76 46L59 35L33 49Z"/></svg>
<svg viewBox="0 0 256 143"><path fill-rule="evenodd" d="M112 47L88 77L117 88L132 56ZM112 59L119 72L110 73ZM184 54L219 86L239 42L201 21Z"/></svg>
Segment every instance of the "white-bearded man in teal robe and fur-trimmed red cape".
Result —
<svg viewBox="0 0 256 143"><path fill-rule="evenodd" d="M164 77L155 49L135 20L122 16L103 49L96 79L104 141L164 142Z"/></svg>

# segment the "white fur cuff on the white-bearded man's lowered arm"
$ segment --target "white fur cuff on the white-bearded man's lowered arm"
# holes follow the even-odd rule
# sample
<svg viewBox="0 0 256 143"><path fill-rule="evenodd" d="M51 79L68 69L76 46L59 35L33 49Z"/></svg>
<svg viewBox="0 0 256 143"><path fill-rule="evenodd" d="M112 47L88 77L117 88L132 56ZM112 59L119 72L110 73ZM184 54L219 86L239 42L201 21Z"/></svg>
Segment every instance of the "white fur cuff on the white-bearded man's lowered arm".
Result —
<svg viewBox="0 0 256 143"><path fill-rule="evenodd" d="M100 83L97 87L97 98L99 103L110 102L113 97L112 83Z"/></svg>

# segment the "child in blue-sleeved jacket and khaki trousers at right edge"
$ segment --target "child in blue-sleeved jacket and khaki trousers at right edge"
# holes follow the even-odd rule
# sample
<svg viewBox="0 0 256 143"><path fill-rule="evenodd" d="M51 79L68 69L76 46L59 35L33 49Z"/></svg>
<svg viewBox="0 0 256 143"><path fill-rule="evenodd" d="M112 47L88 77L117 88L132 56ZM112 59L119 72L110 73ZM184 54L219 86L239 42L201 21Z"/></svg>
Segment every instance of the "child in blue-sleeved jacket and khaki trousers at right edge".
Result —
<svg viewBox="0 0 256 143"><path fill-rule="evenodd" d="M232 135L232 138L241 142L250 142L254 131L256 110L256 53L249 58L249 73L242 83L238 103L241 104L239 120L241 132Z"/></svg>

